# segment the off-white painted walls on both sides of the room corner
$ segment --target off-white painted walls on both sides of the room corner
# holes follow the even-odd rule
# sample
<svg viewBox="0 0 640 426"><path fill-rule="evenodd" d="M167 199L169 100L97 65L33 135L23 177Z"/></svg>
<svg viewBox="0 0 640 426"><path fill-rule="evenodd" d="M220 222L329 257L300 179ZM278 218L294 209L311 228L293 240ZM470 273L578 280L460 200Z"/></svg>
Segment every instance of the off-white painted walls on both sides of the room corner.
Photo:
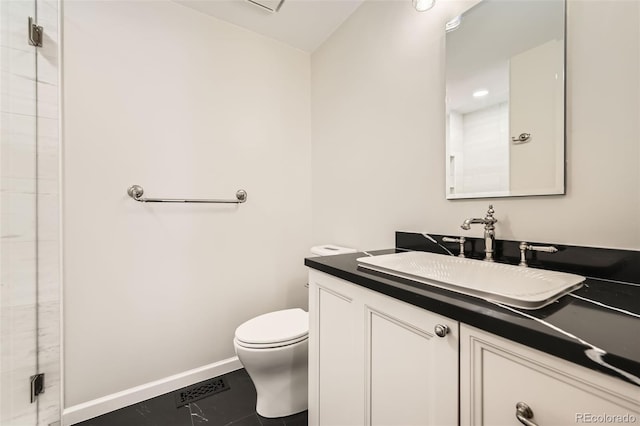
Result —
<svg viewBox="0 0 640 426"><path fill-rule="evenodd" d="M65 406L232 356L305 306L312 243L461 234L491 202L498 238L640 248L638 4L570 1L567 195L446 201L442 28L472 3L366 2L310 68L168 1L66 2Z"/></svg>

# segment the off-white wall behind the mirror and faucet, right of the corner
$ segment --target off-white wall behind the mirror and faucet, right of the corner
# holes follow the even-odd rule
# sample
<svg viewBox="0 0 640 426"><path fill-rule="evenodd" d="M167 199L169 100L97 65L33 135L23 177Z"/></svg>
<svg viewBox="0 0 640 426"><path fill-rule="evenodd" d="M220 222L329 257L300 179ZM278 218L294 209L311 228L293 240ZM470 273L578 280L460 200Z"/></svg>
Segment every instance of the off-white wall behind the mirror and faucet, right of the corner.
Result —
<svg viewBox="0 0 640 426"><path fill-rule="evenodd" d="M492 203L501 239L640 249L638 2L569 1L567 194L447 201L442 28L470 5L366 2L312 55L314 241L481 236Z"/></svg>

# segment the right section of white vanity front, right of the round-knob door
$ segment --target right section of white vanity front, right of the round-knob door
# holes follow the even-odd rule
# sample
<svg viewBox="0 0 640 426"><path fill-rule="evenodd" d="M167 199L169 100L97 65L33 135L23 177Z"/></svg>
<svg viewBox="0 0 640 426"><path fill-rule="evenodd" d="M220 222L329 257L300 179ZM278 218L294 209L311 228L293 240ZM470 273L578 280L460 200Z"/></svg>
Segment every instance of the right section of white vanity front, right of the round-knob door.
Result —
<svg viewBox="0 0 640 426"><path fill-rule="evenodd" d="M640 423L640 387L461 324L460 424L520 425L519 402L539 426Z"/></svg>

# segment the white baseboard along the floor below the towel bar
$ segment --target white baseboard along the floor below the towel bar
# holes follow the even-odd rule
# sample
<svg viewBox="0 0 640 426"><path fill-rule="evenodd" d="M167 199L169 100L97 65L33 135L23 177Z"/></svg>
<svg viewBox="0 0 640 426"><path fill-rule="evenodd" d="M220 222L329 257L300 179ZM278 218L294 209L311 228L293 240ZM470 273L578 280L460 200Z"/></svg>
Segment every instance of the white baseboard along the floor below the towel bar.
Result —
<svg viewBox="0 0 640 426"><path fill-rule="evenodd" d="M182 389L194 383L239 370L240 368L242 368L242 364L238 357L227 358L213 364L103 396L102 398L83 402L82 404L65 408L62 411L62 425L70 426L83 422L111 411L155 398L167 392Z"/></svg>

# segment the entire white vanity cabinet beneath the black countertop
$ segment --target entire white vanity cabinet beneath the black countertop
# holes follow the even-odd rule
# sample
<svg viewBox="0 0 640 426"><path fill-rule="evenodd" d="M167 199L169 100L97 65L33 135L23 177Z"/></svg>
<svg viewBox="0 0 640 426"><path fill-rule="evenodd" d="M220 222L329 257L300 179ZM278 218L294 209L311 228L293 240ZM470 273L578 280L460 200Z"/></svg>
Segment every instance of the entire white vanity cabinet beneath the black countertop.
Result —
<svg viewBox="0 0 640 426"><path fill-rule="evenodd" d="M309 290L310 425L640 424L620 378L316 270Z"/></svg>

